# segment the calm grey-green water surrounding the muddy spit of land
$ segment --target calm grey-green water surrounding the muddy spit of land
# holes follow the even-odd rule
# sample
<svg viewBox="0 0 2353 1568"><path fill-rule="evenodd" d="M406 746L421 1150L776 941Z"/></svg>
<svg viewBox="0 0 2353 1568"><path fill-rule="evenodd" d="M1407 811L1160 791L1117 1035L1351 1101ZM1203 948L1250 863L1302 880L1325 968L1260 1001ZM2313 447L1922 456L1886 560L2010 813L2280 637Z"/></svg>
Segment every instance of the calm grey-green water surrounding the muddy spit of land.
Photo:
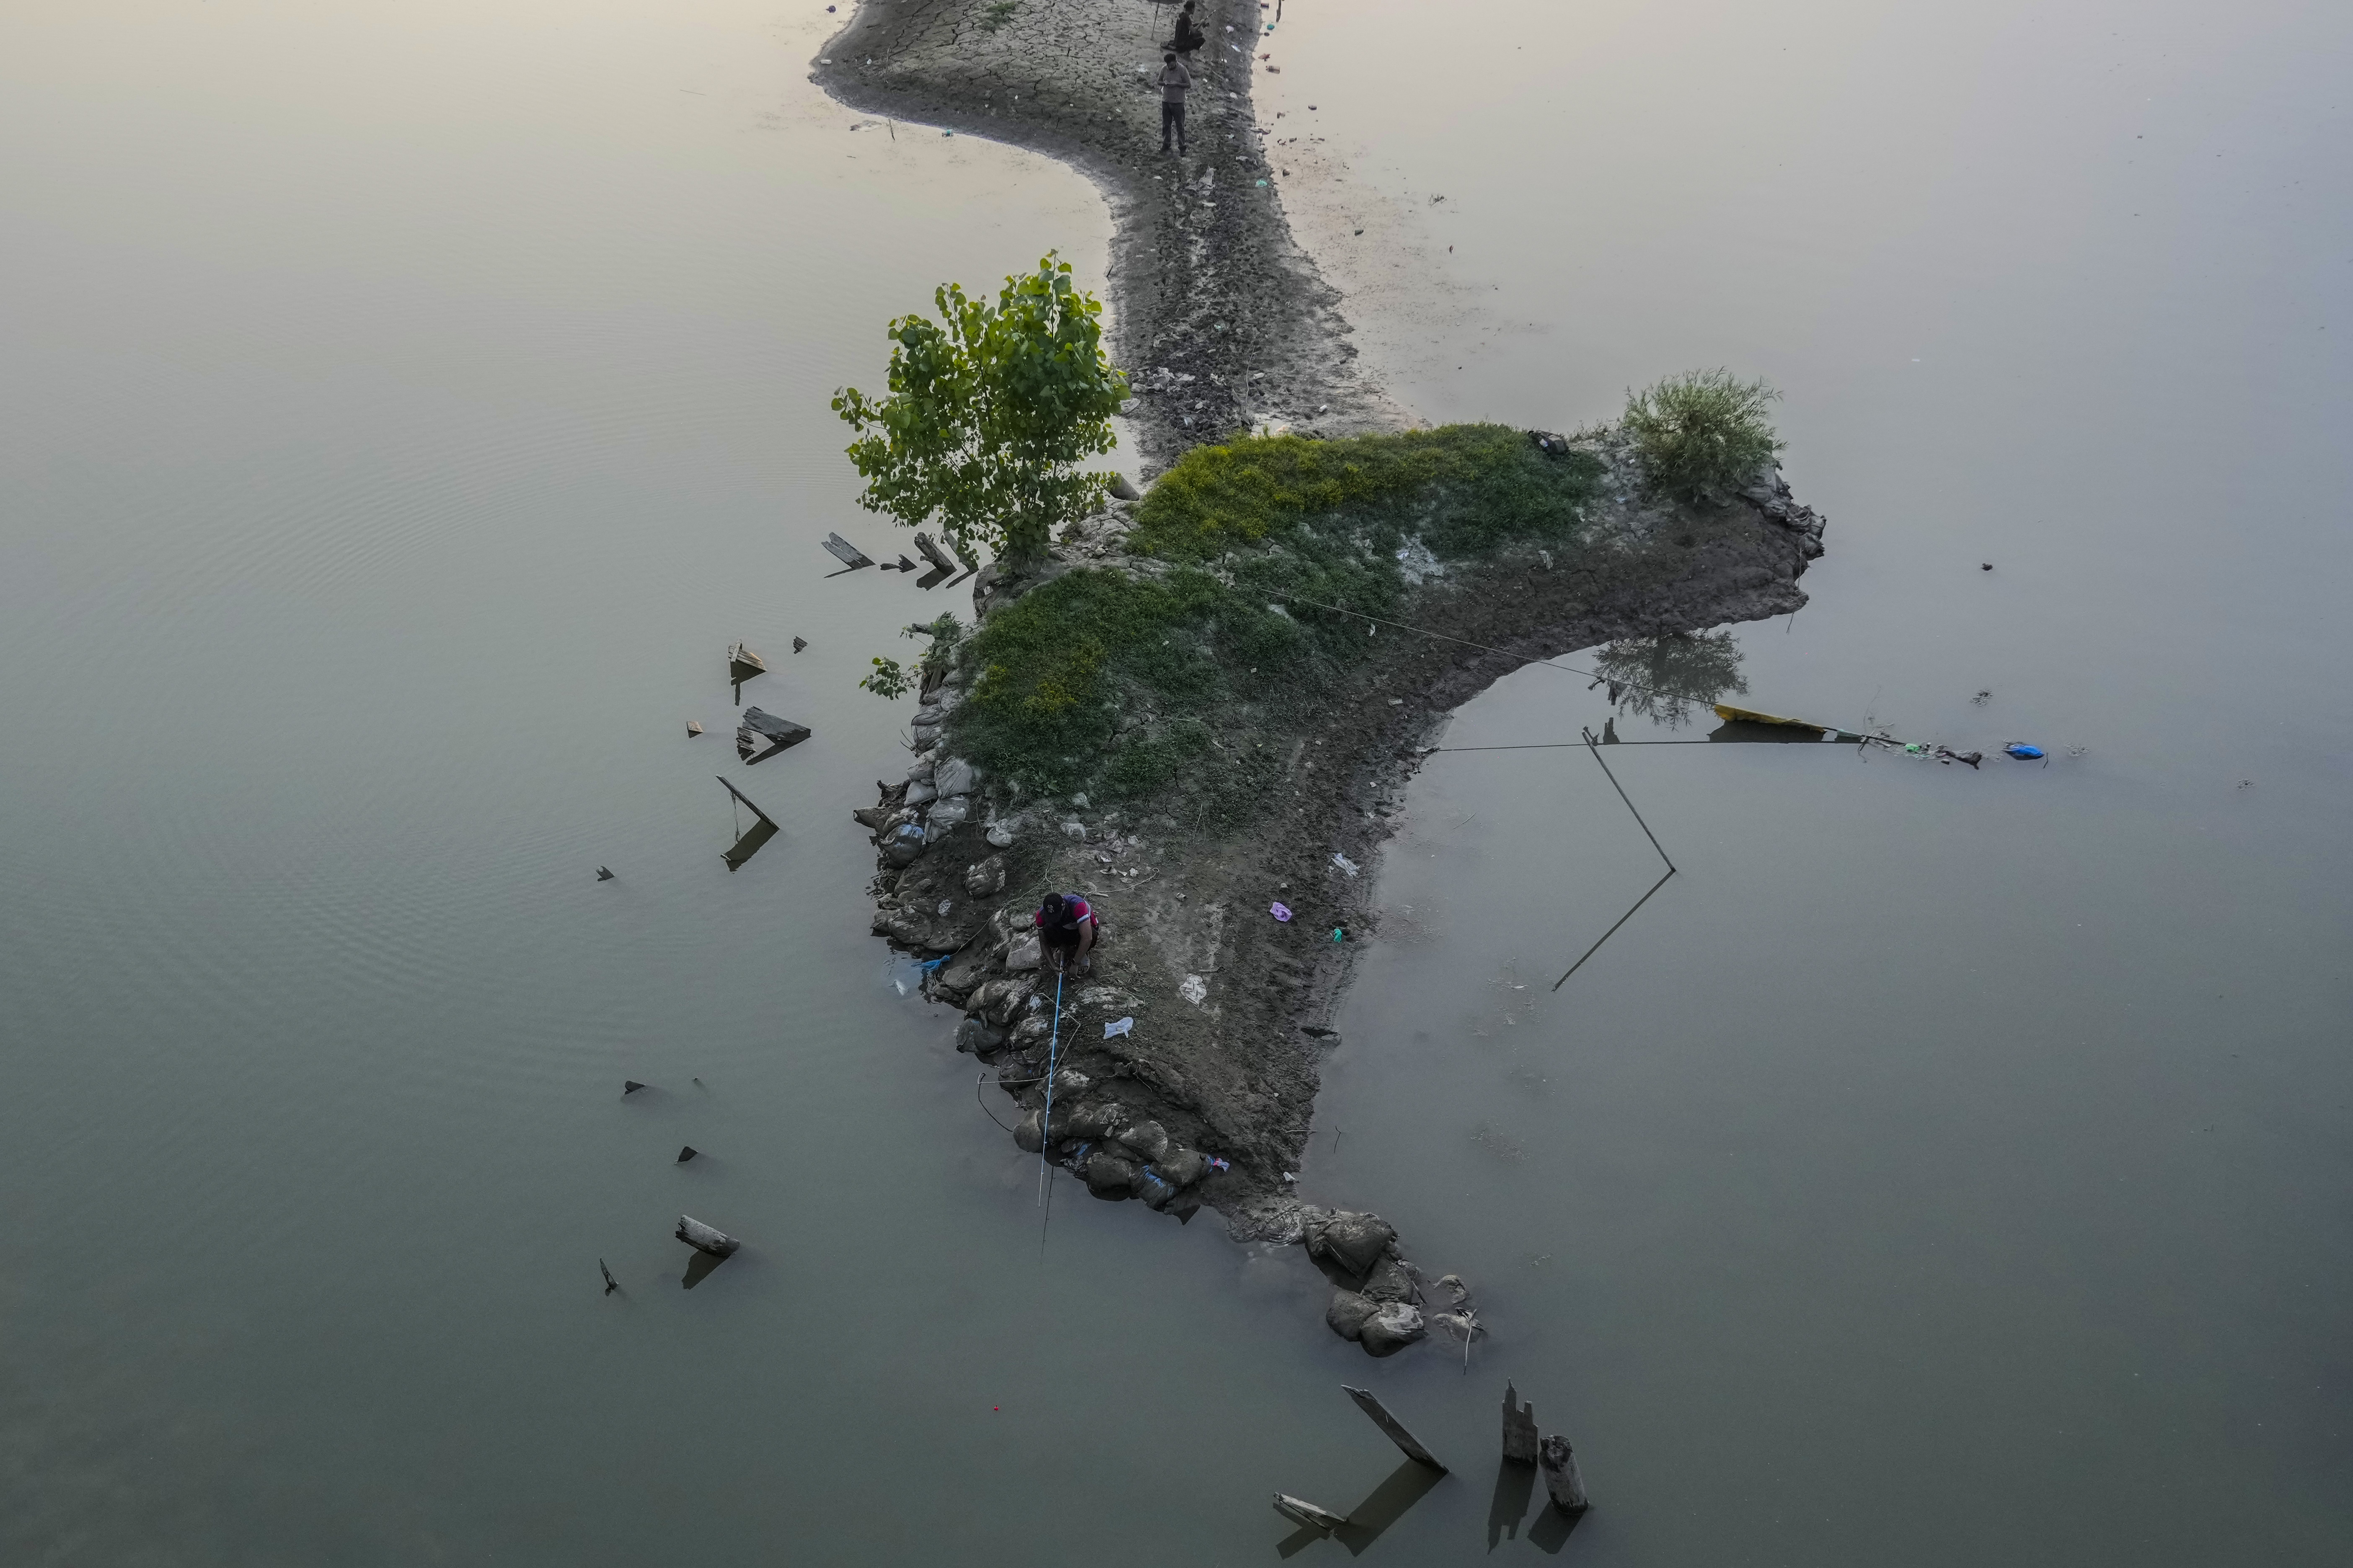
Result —
<svg viewBox="0 0 2353 1568"><path fill-rule="evenodd" d="M889 538L824 397L1099 277L1078 176L826 103L814 5L0 21L7 1561L1264 1561L1275 1488L1393 1561L2346 1556L2346 26L1449 21L1271 78L1454 268L1409 402L1769 374L1833 552L1748 701L2057 757L1621 748L1682 875L1560 992L1649 846L1577 750L1431 759L1304 1190L1480 1288L1468 1375L1212 1215L1042 1225L864 933L854 679L941 602L821 581ZM736 637L816 729L753 771Z"/></svg>

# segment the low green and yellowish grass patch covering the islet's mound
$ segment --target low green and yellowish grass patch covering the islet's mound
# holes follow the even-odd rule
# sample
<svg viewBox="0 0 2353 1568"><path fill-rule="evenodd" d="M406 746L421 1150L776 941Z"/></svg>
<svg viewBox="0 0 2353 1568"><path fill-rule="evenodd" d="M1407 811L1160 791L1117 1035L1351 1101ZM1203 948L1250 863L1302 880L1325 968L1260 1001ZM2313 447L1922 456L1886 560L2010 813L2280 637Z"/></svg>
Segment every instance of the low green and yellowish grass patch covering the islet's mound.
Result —
<svg viewBox="0 0 2353 1568"><path fill-rule="evenodd" d="M1259 795L1271 733L1384 635L1409 559L1574 548L1600 463L1522 430L1447 425L1339 442L1195 447L1134 510L1155 571L1068 571L988 616L951 717L955 750L1028 790L1172 802L1231 823Z"/></svg>

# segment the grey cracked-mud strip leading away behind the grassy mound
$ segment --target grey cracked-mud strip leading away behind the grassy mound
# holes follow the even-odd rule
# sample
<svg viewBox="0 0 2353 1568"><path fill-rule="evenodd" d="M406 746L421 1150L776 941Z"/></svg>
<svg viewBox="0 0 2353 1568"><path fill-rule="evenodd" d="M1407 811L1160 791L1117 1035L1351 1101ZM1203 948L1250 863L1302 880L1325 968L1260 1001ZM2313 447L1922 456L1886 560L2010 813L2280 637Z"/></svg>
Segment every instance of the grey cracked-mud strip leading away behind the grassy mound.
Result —
<svg viewBox="0 0 2353 1568"><path fill-rule="evenodd" d="M1035 148L1111 202L1113 360L1146 473L1280 421L1358 435L1407 421L1358 367L1339 294L1292 240L1249 101L1259 9L1198 0L1188 153L1160 153L1160 40L1136 0L866 0L812 66L899 122Z"/></svg>

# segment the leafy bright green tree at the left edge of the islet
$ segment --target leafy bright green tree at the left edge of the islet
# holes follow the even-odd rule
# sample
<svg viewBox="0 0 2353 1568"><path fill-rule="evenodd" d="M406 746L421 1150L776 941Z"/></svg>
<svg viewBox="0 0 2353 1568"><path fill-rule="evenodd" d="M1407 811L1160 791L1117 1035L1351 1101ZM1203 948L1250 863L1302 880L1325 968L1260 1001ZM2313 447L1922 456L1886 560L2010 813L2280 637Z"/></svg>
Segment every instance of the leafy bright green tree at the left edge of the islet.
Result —
<svg viewBox="0 0 2353 1568"><path fill-rule="evenodd" d="M833 395L859 433L859 505L911 529L936 520L967 559L981 543L1014 564L1038 559L1111 489L1111 475L1078 468L1118 444L1111 416L1127 402L1127 376L1101 348L1104 306L1054 252L1007 277L995 306L953 282L932 299L939 322L889 324L889 397Z"/></svg>

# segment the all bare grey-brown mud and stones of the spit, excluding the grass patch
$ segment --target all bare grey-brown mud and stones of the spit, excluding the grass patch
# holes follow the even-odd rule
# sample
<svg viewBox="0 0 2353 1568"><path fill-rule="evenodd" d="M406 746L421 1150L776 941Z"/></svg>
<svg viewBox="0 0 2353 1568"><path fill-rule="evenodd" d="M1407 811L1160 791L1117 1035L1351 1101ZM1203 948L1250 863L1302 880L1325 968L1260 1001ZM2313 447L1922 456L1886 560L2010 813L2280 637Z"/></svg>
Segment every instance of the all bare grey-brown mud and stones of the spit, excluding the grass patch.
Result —
<svg viewBox="0 0 2353 1568"><path fill-rule="evenodd" d="M1160 59L1165 7L1021 0L988 31L986 0L868 0L816 80L856 108L1024 143L1094 176L1115 219L1115 360L1144 393L1132 418L1153 470L1266 414L1315 435L1400 428L1273 186L1254 183L1266 165L1240 49L1257 9L1198 9L1212 42L1186 160L1158 155L1158 92L1136 73ZM1301 1204L1292 1173L1329 1016L1379 938L1369 867L1419 748L1532 658L1795 611L1798 576L1821 555L1824 520L1779 475L1722 508L1659 505L1614 435L1579 447L1605 465L1579 545L1417 569L1398 616L1414 630L1367 625L1372 654L1268 759L1280 766L1245 830L1202 830L1153 804L1014 799L976 778L948 755L965 668L925 689L908 776L856 813L882 849L873 929L944 959L925 987L967 1013L958 1044L995 1065L1021 1147L1052 1150L1096 1197L1186 1220L1209 1206L1238 1239L1304 1241L1337 1286L1334 1331L1377 1354L1424 1333L1428 1276L1379 1218ZM1129 505L1113 503L1068 529L1038 574L984 574L976 607L1073 567L1160 571L1125 552L1127 527ZM1085 893L1106 922L1094 971L1064 990L1059 1032L1054 980L1024 940L1047 891ZM1120 1018L1132 1027L1106 1034ZM1449 1293L1459 1305L1459 1284Z"/></svg>

